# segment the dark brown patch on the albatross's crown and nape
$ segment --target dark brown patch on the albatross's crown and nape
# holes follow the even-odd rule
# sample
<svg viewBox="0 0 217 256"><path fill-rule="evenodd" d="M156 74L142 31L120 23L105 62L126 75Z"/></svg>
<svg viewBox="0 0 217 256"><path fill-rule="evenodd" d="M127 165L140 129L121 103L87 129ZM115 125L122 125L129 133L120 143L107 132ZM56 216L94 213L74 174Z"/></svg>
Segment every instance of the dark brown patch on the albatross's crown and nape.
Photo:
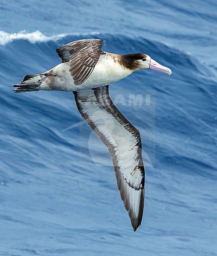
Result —
<svg viewBox="0 0 217 256"><path fill-rule="evenodd" d="M141 52L126 54L126 55L118 55L118 59L120 64L124 67L127 67L131 70L135 70L138 67L137 60L141 60L143 58L147 58L147 55Z"/></svg>

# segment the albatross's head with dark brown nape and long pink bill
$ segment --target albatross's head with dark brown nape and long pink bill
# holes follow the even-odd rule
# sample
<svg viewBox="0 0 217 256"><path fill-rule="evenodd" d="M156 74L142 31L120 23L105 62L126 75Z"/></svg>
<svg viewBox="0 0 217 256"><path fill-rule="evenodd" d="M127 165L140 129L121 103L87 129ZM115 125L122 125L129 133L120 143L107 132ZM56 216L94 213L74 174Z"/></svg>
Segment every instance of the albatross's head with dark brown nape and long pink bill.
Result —
<svg viewBox="0 0 217 256"><path fill-rule="evenodd" d="M154 61L147 54L139 52L134 54L123 55L123 57L126 59L125 64L129 64L128 67L134 71L151 69L163 72L168 76L171 76L172 74L171 69L160 65L159 63L157 63L157 61Z"/></svg>

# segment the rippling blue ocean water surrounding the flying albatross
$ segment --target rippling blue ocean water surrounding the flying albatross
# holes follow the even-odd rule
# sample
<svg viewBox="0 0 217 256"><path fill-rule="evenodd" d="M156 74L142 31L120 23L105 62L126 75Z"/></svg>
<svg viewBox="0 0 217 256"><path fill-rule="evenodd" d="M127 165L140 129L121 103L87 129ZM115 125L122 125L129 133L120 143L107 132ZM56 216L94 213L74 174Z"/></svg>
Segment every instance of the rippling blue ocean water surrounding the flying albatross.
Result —
<svg viewBox="0 0 217 256"><path fill-rule="evenodd" d="M0 255L217 255L216 10L213 0L0 3ZM117 105L152 163L136 233L109 153L72 93L12 91L82 38L173 71L142 70L110 86L113 100L136 91L154 102Z"/></svg>

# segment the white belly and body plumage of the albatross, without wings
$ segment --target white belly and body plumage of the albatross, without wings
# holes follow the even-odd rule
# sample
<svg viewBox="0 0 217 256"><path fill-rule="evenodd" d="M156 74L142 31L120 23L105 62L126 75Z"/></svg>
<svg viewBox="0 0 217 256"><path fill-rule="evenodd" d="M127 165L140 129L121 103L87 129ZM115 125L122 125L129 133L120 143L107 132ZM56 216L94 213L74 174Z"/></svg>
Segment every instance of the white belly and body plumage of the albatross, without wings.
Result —
<svg viewBox="0 0 217 256"><path fill-rule="evenodd" d="M95 88L119 81L132 73L131 70L123 68L119 62L113 60L113 58L107 54L100 55L100 59L89 78L78 86L74 85L73 78L70 75L69 62L61 63L51 71L55 76L48 77L40 85L40 90L74 91L85 88Z"/></svg>

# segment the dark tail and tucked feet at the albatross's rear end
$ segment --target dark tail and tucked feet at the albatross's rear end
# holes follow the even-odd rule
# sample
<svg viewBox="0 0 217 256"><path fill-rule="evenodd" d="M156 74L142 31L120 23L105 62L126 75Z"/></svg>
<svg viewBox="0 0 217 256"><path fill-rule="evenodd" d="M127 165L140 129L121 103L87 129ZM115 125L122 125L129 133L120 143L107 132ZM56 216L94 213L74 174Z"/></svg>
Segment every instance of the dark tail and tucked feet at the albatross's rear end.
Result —
<svg viewBox="0 0 217 256"><path fill-rule="evenodd" d="M38 91L40 84L43 80L46 79L46 76L43 74L38 75L26 75L23 78L23 81L20 84L14 84L12 87L17 87L14 89L14 93L25 93Z"/></svg>

